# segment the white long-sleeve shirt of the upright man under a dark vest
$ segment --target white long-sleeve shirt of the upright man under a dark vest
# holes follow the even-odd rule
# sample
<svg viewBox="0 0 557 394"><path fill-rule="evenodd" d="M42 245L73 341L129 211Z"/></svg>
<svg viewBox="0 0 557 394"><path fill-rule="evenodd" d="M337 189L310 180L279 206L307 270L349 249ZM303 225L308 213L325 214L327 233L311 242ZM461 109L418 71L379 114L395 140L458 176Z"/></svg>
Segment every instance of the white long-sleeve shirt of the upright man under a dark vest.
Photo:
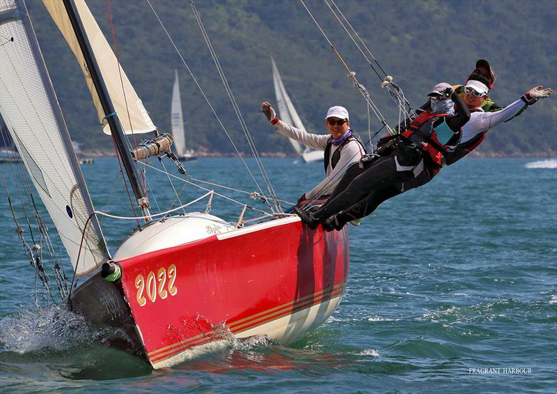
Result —
<svg viewBox="0 0 557 394"><path fill-rule="evenodd" d="M274 127L275 130L282 135L295 139L301 144L317 149L318 151L324 151L327 148L327 142L329 142L329 138L331 137L330 135L319 135L311 132L305 132L304 130L290 126L288 123L280 120L274 125ZM340 181L343 177L348 167L355 162L359 162L361 156L363 156L361 144L354 140L349 141L345 144L345 146L343 146L343 150L340 151L340 159L333 168L331 167L331 160L336 149L338 149L338 146L332 144L331 153L329 154L329 162L327 163L327 176L325 176L320 183L317 183L313 189L306 192L306 199L330 195L336 185L338 185L338 181Z"/></svg>

